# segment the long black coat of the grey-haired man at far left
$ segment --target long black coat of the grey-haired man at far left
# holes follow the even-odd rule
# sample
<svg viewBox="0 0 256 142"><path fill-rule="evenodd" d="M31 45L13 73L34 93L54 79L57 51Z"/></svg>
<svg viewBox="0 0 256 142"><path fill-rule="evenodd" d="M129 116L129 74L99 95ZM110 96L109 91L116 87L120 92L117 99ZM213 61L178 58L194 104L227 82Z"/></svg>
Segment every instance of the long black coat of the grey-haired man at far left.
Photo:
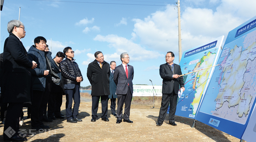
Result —
<svg viewBox="0 0 256 142"><path fill-rule="evenodd" d="M4 42L2 102L29 102L32 92L30 68L33 63L13 33Z"/></svg>

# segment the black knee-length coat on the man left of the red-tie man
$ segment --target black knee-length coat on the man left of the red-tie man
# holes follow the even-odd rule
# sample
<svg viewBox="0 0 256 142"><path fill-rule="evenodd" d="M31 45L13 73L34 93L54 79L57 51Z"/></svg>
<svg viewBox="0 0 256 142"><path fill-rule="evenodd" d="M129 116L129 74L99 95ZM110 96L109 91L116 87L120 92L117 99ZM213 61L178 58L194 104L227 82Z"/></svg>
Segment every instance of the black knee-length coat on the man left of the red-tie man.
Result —
<svg viewBox="0 0 256 142"><path fill-rule="evenodd" d="M87 77L91 83L92 96L110 95L109 75L110 67L109 63L106 61L102 63L102 68L100 68L96 59L89 63L87 68Z"/></svg>

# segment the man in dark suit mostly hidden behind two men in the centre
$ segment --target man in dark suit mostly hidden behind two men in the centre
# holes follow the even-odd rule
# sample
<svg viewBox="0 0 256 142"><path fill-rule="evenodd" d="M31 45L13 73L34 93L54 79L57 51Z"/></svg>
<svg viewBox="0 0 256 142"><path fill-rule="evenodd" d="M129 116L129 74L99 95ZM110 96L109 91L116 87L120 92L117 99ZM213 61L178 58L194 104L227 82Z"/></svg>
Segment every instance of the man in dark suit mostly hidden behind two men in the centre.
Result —
<svg viewBox="0 0 256 142"><path fill-rule="evenodd" d="M113 114L114 116L117 116L117 114L115 113L115 105L116 105L115 101L117 99L117 94L115 93L115 90L117 90L117 85L115 84L115 82L113 80L115 67L117 67L117 64L115 63L115 61L111 61L110 62L110 76L109 76L110 95L108 95L108 98L111 101L111 104L110 104L111 114Z"/></svg>

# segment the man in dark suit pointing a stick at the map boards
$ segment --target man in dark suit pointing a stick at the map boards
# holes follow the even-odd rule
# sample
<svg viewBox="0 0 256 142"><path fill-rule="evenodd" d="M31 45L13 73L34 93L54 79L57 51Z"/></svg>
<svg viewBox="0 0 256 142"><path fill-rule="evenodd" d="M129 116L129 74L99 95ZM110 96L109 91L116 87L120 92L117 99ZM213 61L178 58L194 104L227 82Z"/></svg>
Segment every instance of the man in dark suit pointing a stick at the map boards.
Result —
<svg viewBox="0 0 256 142"><path fill-rule="evenodd" d="M166 63L160 65L160 76L163 79L163 86L162 86L162 102L161 108L159 111L158 116L158 123L156 126L161 126L163 121L165 120L167 109L170 103L170 111L169 111L169 124L172 126L177 126L175 123L174 115L176 112L177 106L177 99L178 99L178 91L179 86L183 91L184 88L184 81L182 75L180 65L174 64L174 54L173 52L167 52L165 56Z"/></svg>

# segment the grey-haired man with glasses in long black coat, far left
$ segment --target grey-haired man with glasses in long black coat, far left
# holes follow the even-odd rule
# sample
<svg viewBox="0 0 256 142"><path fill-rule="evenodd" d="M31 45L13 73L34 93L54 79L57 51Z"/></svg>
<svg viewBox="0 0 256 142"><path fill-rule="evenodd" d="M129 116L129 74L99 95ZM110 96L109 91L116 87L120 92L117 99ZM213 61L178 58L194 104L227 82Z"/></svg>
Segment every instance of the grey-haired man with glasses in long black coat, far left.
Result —
<svg viewBox="0 0 256 142"><path fill-rule="evenodd" d="M32 93L32 77L30 68L37 67L28 59L21 38L25 37L25 27L19 20L11 20L7 24L9 37L4 42L4 67L2 102L9 103L4 125L5 141L25 141L27 138L19 135L19 117L24 102L29 102Z"/></svg>

